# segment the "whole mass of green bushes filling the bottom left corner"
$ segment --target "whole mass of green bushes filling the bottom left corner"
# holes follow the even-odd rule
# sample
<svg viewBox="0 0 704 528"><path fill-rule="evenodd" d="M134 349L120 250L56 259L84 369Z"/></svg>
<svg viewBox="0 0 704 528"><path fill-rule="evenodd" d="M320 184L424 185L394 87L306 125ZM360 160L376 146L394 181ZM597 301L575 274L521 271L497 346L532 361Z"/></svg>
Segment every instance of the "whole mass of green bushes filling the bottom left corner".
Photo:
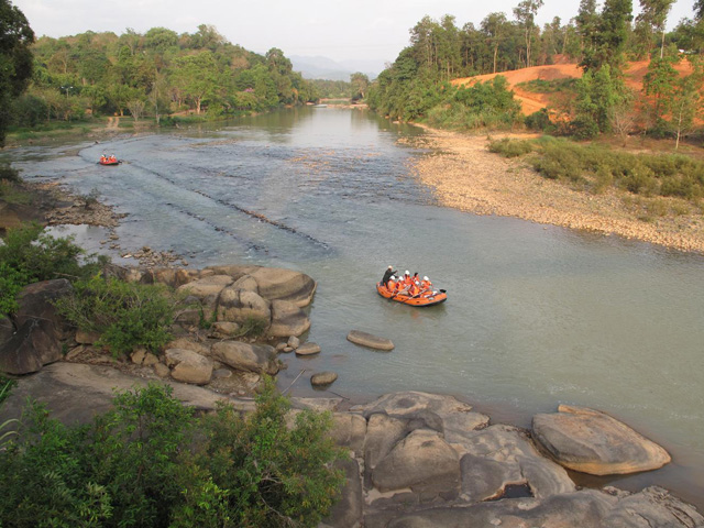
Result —
<svg viewBox="0 0 704 528"><path fill-rule="evenodd" d="M268 381L256 410L197 418L168 386L119 393L88 426L32 405L0 450L3 527L316 526L342 475L328 415L301 413Z"/></svg>

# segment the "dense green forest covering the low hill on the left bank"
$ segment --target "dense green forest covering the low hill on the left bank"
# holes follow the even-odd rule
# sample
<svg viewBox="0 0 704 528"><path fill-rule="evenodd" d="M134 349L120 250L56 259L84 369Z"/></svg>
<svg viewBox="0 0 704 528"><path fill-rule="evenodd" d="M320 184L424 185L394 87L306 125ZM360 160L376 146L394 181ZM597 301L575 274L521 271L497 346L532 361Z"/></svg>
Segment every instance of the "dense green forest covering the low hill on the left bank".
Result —
<svg viewBox="0 0 704 528"><path fill-rule="evenodd" d="M209 118L264 111L318 99L316 88L278 48L264 56L227 41L210 25L193 34L153 28L43 36L32 46L34 70L13 122L34 125L92 114L134 119L175 112Z"/></svg>

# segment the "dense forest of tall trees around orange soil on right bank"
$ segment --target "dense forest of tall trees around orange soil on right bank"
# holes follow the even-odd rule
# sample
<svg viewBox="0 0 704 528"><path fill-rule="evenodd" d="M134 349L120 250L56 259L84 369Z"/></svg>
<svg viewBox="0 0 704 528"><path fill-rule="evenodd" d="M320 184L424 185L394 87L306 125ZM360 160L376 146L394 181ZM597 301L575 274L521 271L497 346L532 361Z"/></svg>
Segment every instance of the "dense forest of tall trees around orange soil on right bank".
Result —
<svg viewBox="0 0 704 528"><path fill-rule="evenodd" d="M529 116L527 125L578 138L642 129L679 139L702 110L704 0L696 0L694 19L667 33L672 3L640 0L634 16L631 0L606 0L601 10L596 0L582 0L573 19L563 24L556 16L542 29L535 22L542 0L522 0L514 20L491 13L479 26L458 28L452 15L426 16L410 30L410 45L372 84L367 101L394 119L438 127L513 127L524 118L501 78L469 88L450 81L569 62L584 72L578 81L558 87L571 97L551 112ZM641 92L624 82L629 61L649 61ZM674 68L683 61L691 63L684 77Z"/></svg>

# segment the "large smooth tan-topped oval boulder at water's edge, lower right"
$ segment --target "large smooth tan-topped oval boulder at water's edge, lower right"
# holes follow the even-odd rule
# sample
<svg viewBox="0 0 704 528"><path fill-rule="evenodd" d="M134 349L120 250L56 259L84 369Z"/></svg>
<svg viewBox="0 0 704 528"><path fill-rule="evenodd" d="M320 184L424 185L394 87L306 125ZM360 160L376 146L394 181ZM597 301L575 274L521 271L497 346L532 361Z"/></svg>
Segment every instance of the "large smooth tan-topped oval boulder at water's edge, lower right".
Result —
<svg viewBox="0 0 704 528"><path fill-rule="evenodd" d="M560 465L592 475L657 470L670 455L615 418L585 407L561 405L536 415L534 438Z"/></svg>

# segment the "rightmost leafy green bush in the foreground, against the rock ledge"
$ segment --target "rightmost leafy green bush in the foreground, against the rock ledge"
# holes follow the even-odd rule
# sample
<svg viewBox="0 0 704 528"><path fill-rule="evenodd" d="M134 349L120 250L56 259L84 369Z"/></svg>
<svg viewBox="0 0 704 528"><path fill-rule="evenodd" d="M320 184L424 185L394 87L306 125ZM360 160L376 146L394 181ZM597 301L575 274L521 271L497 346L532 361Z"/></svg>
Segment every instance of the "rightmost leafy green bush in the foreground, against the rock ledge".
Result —
<svg viewBox="0 0 704 528"><path fill-rule="evenodd" d="M317 526L343 475L329 464L342 457L326 437L329 414L301 411L286 425L289 402L267 380L256 411L244 419L230 406L204 418L208 441L197 455L226 497L237 526Z"/></svg>

